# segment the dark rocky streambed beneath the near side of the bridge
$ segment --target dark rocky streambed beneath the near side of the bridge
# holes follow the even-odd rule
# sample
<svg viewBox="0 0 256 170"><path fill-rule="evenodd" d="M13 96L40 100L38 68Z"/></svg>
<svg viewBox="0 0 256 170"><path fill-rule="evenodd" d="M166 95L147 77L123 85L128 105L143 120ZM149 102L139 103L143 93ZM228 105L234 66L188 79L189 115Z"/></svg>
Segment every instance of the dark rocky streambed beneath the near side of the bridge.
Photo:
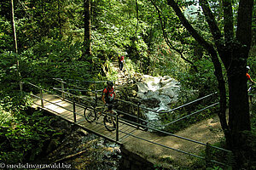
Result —
<svg viewBox="0 0 256 170"><path fill-rule="evenodd" d="M55 130L55 135L44 145L43 153L33 163L63 164L78 170L119 169L121 153L118 144L88 133L59 117L51 123L51 128Z"/></svg>

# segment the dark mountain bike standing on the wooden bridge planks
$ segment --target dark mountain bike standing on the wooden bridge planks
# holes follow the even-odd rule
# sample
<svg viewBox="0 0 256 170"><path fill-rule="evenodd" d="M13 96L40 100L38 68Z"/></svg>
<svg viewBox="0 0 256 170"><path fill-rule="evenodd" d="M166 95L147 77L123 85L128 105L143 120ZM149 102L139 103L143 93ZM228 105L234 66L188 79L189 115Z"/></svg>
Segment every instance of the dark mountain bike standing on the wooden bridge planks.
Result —
<svg viewBox="0 0 256 170"><path fill-rule="evenodd" d="M116 111L111 113L108 111L108 105L97 106L96 108L86 107L84 109L84 118L87 122L98 121L101 116L103 116L104 126L108 131L114 131L116 128L115 115Z"/></svg>

